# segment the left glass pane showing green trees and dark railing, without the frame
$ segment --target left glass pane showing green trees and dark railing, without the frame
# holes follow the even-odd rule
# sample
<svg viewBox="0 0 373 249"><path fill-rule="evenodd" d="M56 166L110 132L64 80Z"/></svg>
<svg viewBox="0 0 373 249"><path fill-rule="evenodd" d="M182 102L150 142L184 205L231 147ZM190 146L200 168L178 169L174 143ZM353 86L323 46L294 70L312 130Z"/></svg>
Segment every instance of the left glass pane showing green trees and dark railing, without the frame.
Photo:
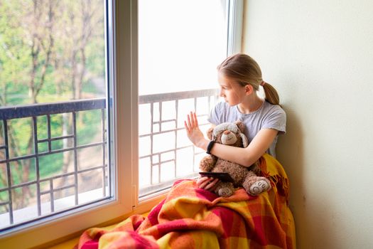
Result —
<svg viewBox="0 0 373 249"><path fill-rule="evenodd" d="M0 230L112 197L105 1L0 2Z"/></svg>

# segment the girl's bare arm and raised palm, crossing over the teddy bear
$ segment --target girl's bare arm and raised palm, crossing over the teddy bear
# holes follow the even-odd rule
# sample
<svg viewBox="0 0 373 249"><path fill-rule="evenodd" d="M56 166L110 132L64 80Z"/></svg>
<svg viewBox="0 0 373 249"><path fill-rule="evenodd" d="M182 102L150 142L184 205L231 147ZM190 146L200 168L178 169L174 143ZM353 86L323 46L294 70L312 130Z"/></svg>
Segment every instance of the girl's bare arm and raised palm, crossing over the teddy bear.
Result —
<svg viewBox="0 0 373 249"><path fill-rule="evenodd" d="M193 142L196 147L206 150L210 141L205 139L200 131L195 112L190 112L190 115L187 116L187 122L184 122L184 126L190 141ZM244 166L251 166L271 146L277 133L278 131L276 129L261 129L248 147L238 148L224 144L215 144L211 149L211 154L227 161L233 161Z"/></svg>

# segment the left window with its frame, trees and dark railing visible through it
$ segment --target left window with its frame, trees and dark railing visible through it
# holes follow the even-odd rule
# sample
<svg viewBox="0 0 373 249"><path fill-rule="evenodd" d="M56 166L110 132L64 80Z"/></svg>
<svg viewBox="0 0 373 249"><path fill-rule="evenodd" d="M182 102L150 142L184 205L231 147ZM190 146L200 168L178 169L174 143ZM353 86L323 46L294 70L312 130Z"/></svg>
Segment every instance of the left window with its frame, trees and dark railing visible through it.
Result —
<svg viewBox="0 0 373 249"><path fill-rule="evenodd" d="M117 98L132 85L131 12L129 1L1 1L1 246L131 212L131 150L117 139L133 120Z"/></svg>

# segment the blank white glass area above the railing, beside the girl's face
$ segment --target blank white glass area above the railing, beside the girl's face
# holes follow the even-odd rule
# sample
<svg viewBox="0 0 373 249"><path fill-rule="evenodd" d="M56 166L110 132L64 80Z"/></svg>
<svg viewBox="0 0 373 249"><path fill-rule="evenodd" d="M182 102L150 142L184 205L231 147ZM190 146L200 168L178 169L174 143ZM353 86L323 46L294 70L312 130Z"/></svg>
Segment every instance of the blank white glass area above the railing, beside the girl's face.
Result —
<svg viewBox="0 0 373 249"><path fill-rule="evenodd" d="M225 0L139 0L139 95L217 87Z"/></svg>

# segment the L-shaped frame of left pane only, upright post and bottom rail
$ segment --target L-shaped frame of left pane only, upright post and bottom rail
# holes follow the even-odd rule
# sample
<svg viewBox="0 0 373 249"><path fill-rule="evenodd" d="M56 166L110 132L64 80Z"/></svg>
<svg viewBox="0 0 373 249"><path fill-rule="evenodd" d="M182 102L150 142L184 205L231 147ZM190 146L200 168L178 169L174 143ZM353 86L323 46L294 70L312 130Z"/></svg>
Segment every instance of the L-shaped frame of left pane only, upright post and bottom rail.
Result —
<svg viewBox="0 0 373 249"><path fill-rule="evenodd" d="M110 11L111 10L111 11ZM85 206L76 208L70 213L53 216L18 230L10 230L0 235L1 247L23 248L25 241L29 247L45 245L50 241L67 238L68 235L78 235L84 229L107 223L115 218L128 216L133 211L134 189L132 187L132 171L134 169L134 156L136 153L131 148L133 144L118 137L130 137L133 139L131 130L134 127L135 114L131 110L133 105L128 105L135 91L131 86L136 85L136 18L137 2L130 1L107 1L106 27L107 27L107 79L114 83L114 100L109 100L107 107L113 108L115 113L112 119L113 135L109 137L114 144L114 198L97 206ZM121 28L118 28L121 27ZM110 56L110 54L112 56ZM125 70L119 70L124 68ZM109 98L109 96L107 96ZM131 118L125 118L131 117ZM48 236L45 236L48 235Z"/></svg>

